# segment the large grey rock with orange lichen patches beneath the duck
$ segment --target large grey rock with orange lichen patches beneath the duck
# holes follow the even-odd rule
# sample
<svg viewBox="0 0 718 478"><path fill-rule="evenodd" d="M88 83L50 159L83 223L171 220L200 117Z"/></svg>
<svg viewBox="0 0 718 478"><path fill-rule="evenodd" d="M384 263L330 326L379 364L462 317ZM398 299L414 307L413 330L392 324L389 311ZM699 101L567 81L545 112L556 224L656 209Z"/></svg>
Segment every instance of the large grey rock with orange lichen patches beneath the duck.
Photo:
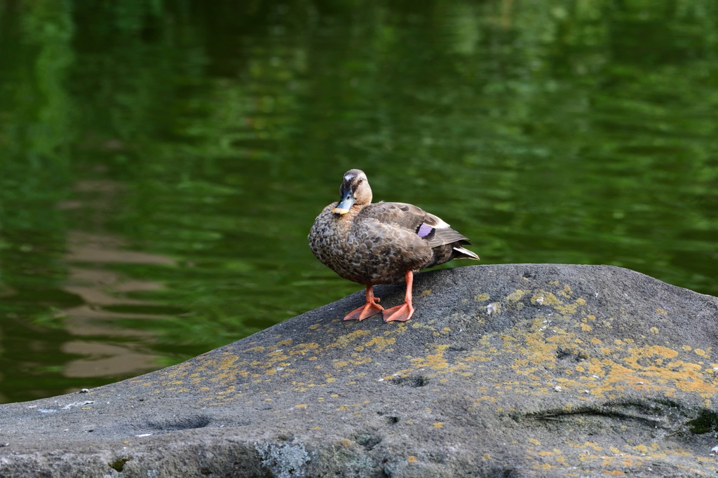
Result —
<svg viewBox="0 0 718 478"><path fill-rule="evenodd" d="M382 304L403 284L378 286ZM421 273L180 365L0 406L1 477L715 476L718 299L609 266Z"/></svg>

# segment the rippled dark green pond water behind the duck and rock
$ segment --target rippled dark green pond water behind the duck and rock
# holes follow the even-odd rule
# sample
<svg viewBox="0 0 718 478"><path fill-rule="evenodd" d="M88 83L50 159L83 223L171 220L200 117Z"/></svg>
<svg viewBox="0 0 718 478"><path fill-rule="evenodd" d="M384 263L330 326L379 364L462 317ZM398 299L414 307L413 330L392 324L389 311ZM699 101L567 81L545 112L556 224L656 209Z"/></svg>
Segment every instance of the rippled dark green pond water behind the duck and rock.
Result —
<svg viewBox="0 0 718 478"><path fill-rule="evenodd" d="M482 263L718 295L717 125L714 0L0 0L0 402L360 290L306 240L351 167Z"/></svg>

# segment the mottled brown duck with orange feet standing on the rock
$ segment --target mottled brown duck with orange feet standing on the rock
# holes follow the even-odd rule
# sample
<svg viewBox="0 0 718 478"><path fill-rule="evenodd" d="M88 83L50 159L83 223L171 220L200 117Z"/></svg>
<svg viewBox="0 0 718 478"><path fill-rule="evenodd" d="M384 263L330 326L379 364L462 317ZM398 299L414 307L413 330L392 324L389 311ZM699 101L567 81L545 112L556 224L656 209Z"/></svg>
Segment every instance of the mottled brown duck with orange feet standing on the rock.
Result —
<svg viewBox="0 0 718 478"><path fill-rule="evenodd" d="M479 256L464 248L471 241L440 217L404 202L371 202L361 169L345 172L340 200L314 220L307 239L314 256L340 277L366 287L366 302L344 320L362 321L382 314L384 322L406 322L414 314L414 273L452 259ZM374 296L377 284L406 281L404 303L390 309Z"/></svg>

